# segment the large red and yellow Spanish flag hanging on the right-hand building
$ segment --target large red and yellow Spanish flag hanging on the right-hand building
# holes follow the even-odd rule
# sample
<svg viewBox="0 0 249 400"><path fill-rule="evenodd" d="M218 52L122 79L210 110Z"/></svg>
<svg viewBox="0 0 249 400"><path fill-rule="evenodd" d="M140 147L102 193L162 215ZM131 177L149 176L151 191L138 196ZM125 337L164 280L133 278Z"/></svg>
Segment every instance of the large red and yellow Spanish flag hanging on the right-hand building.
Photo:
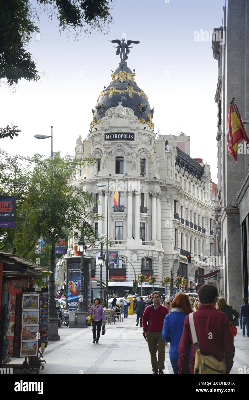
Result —
<svg viewBox="0 0 249 400"><path fill-rule="evenodd" d="M241 116L239 115L239 110L235 104L234 97L230 103L228 118L227 118L227 146L229 156L234 157L237 162L237 146L245 140L249 143L249 139L245 132L243 122L241 121Z"/></svg>

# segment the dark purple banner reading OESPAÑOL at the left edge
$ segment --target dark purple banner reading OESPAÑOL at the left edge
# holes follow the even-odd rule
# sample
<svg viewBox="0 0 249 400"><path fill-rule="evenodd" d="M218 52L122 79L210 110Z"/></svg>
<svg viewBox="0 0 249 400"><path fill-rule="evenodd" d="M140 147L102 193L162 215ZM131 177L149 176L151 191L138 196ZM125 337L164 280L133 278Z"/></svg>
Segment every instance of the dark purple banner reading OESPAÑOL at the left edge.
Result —
<svg viewBox="0 0 249 400"><path fill-rule="evenodd" d="M16 226L16 196L0 196L0 226Z"/></svg>

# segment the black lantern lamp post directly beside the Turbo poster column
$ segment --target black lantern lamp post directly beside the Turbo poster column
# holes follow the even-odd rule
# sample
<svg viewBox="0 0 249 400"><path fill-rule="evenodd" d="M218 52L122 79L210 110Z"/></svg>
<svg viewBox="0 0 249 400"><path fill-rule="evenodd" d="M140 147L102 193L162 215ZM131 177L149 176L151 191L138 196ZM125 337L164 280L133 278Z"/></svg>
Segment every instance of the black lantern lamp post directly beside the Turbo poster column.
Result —
<svg viewBox="0 0 249 400"><path fill-rule="evenodd" d="M76 328L87 328L86 315L87 315L87 299L88 299L88 268L84 268L84 257L86 255L87 246L81 240L78 243L79 251L81 252L81 286L79 288L79 305L75 312ZM84 288L83 288L84 286Z"/></svg>

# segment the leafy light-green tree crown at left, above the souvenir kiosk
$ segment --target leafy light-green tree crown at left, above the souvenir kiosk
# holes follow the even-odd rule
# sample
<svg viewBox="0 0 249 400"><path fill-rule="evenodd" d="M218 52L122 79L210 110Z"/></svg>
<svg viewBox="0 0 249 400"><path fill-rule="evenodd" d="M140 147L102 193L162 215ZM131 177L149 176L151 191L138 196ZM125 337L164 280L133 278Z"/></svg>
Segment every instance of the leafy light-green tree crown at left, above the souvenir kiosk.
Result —
<svg viewBox="0 0 249 400"><path fill-rule="evenodd" d="M86 219L98 220L103 216L91 212L93 198L70 183L75 171L83 164L95 162L94 159L70 160L61 158L59 153L45 160L37 154L33 158L10 158L0 151L0 155L0 172L6 165L0 176L1 193L17 196L16 227L0 228L1 250L9 251L11 246L14 254L33 261L40 238L52 244L72 231L77 239L82 230L85 241L95 246L100 238Z"/></svg>

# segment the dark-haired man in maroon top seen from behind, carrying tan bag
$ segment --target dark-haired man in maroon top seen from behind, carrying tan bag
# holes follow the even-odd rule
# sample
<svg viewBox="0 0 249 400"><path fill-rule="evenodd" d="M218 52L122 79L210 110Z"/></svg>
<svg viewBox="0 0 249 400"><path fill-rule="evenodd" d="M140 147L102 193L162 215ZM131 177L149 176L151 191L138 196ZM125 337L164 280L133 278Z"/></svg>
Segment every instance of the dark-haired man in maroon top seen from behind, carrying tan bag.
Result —
<svg viewBox="0 0 249 400"><path fill-rule="evenodd" d="M226 374L233 366L235 348L230 330L229 320L224 312L215 309L217 288L207 284L201 286L198 296L200 303L198 311L194 312L194 325L199 348L204 356L214 356L217 360L226 360ZM192 335L188 315L184 321L182 337L179 342L178 374L186 374L186 364L191 347L190 374L194 374L196 352L192 345Z"/></svg>

